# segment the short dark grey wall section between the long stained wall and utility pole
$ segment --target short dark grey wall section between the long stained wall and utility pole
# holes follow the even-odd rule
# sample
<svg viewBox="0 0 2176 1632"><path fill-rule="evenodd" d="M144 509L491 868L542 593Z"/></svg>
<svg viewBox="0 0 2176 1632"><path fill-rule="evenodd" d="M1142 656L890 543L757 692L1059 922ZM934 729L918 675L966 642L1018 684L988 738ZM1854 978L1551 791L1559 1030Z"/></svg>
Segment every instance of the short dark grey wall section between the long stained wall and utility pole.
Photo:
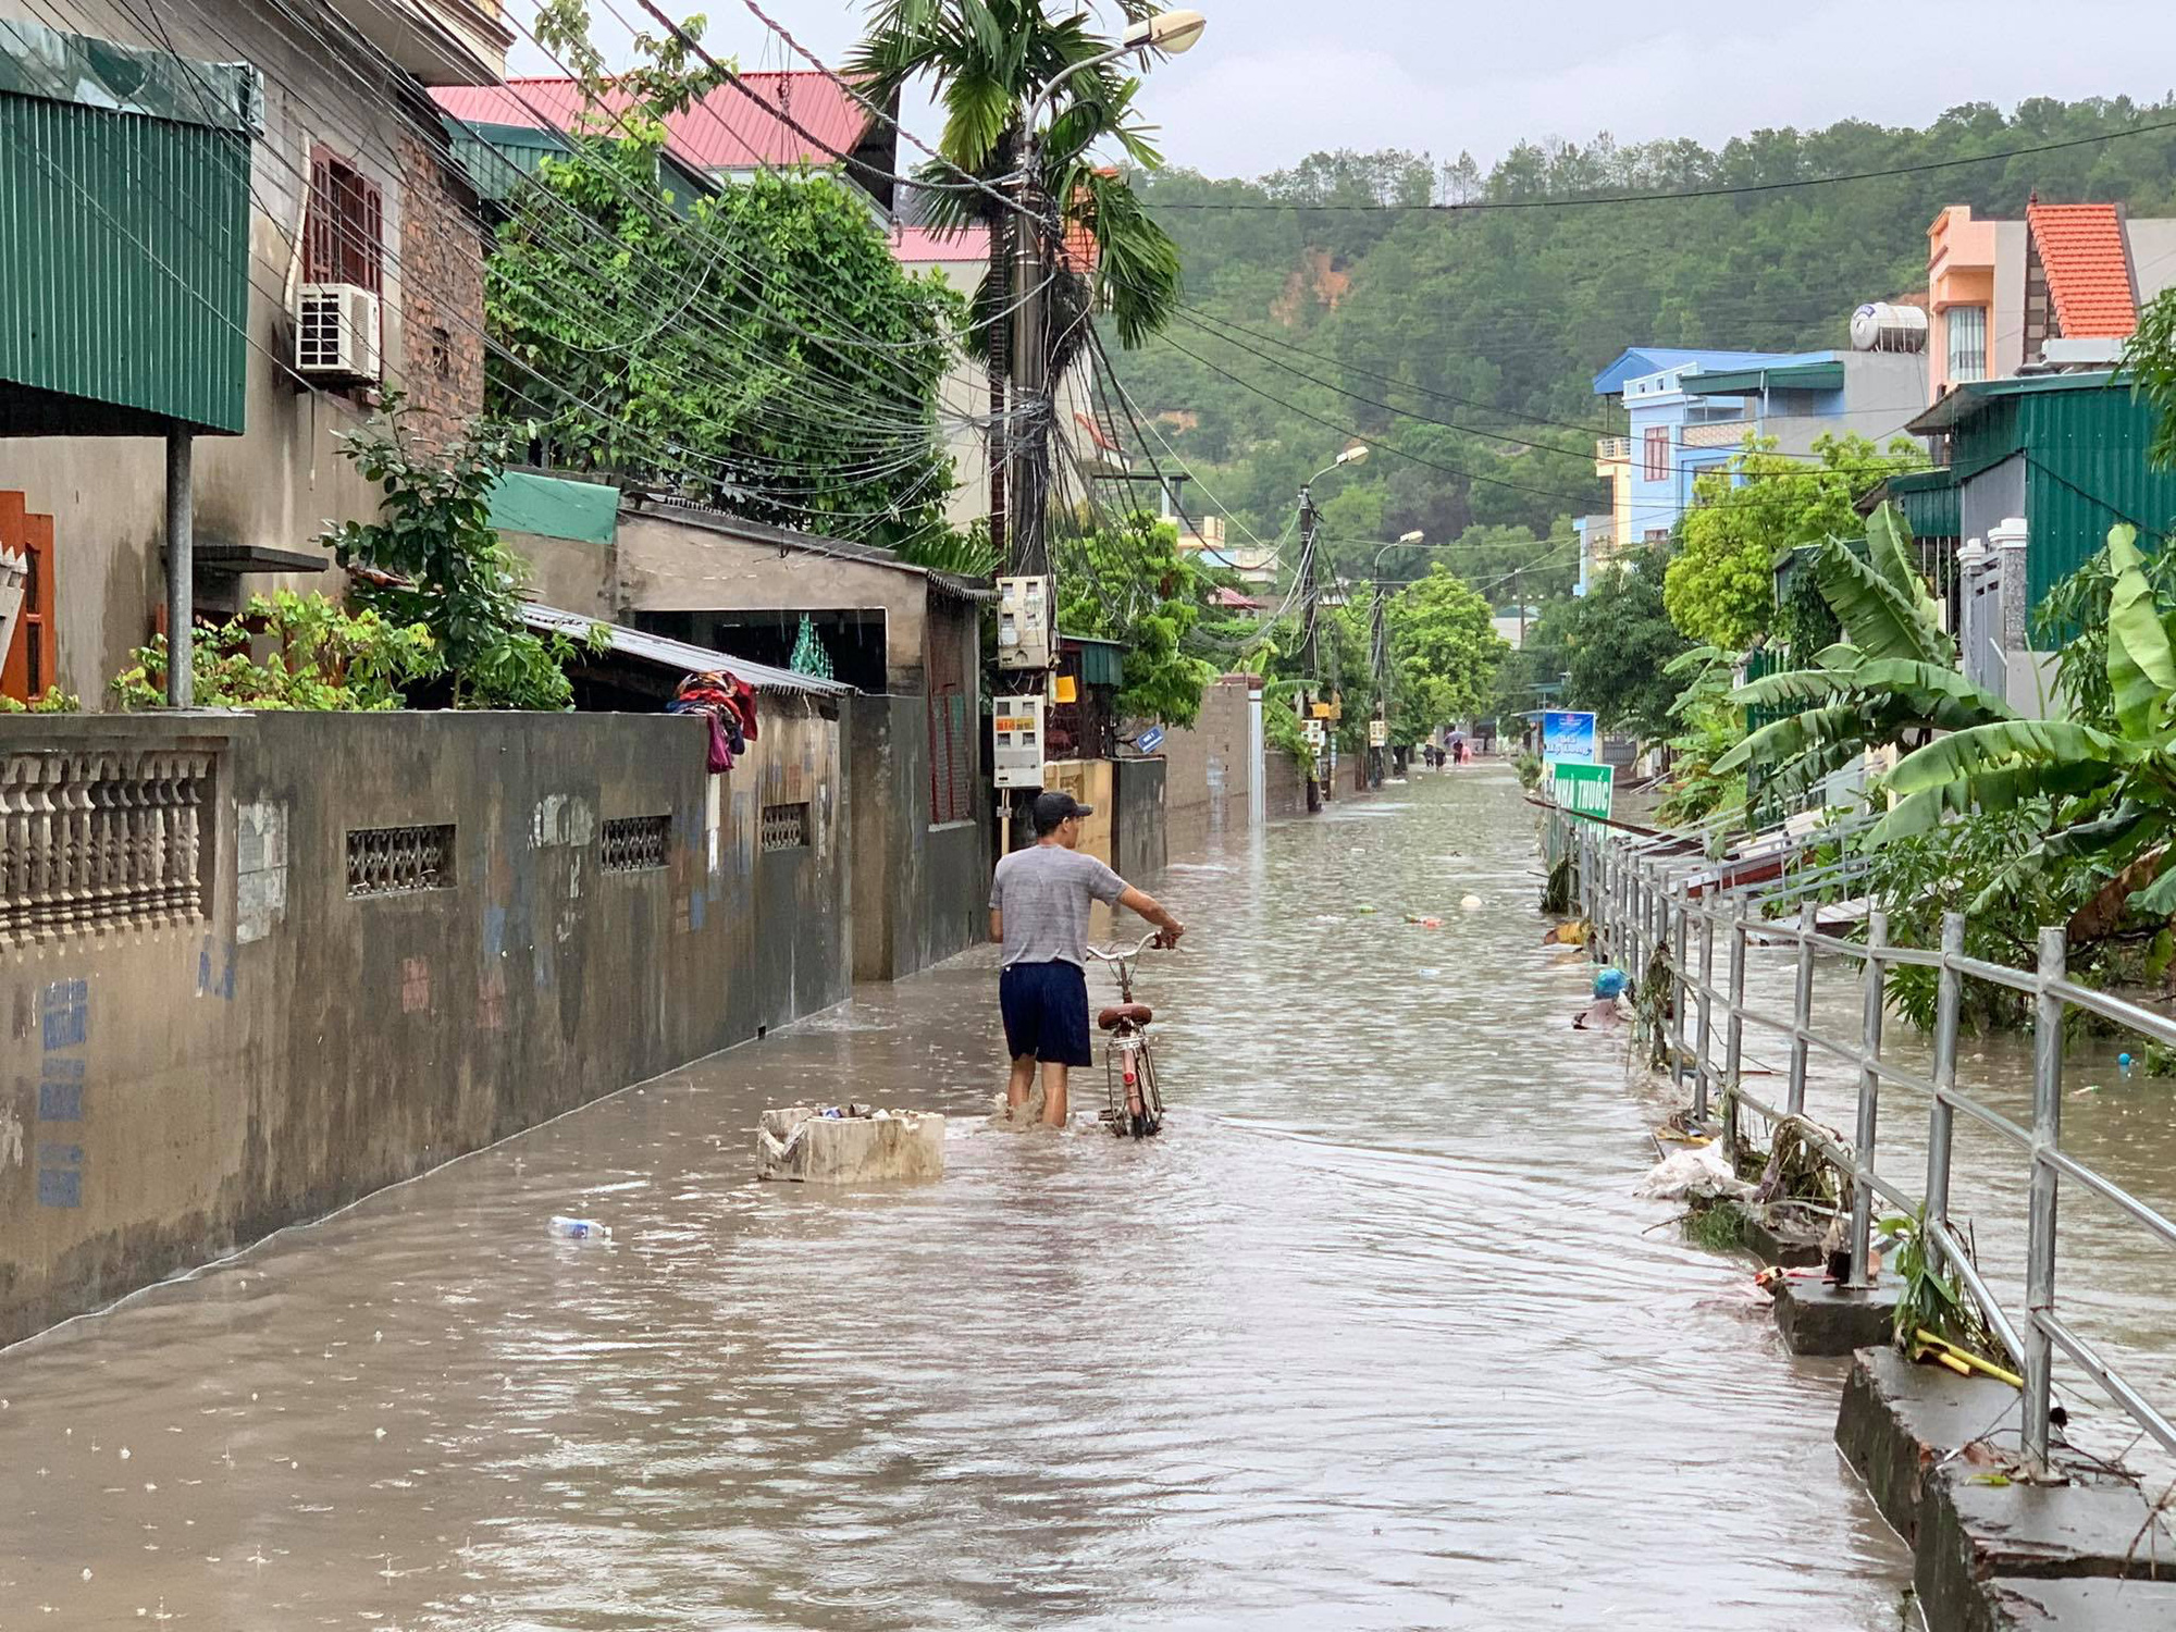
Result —
<svg viewBox="0 0 2176 1632"><path fill-rule="evenodd" d="M929 707L920 696L853 703L853 977L888 981L990 934L988 788L975 820L929 825Z"/></svg>

